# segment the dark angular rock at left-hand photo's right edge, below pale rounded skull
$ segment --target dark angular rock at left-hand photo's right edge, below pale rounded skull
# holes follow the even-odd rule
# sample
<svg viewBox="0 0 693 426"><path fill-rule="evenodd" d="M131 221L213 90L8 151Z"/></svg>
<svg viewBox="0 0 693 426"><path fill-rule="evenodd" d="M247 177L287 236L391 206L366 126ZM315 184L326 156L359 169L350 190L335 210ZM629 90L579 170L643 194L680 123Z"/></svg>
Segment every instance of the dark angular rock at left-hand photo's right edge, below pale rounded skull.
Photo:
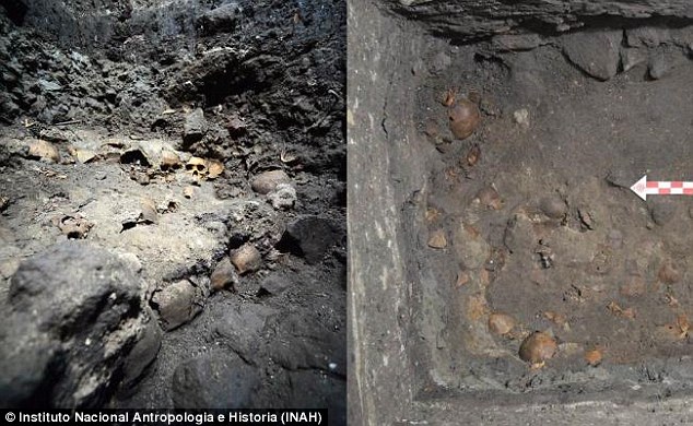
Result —
<svg viewBox="0 0 693 426"><path fill-rule="evenodd" d="M280 244L297 248L296 253L313 264L322 260L327 250L338 241L338 238L336 227L327 218L303 216L286 226Z"/></svg>

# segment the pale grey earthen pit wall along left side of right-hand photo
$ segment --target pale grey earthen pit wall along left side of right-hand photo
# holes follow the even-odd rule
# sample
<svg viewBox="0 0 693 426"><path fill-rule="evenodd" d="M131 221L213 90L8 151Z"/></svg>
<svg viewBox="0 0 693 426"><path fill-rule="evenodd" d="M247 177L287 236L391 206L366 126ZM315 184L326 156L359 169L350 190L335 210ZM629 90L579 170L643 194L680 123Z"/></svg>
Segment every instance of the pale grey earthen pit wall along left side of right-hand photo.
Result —
<svg viewBox="0 0 693 426"><path fill-rule="evenodd" d="M373 3L356 3L348 21L354 46L348 58L348 181L350 200L368 201L349 204L349 418L386 425L407 418L420 389L408 334L414 283L407 261L415 241L404 233L400 209L411 206L411 191L426 180L413 126L402 121L412 116L415 96L409 59L426 49L421 36L402 43L408 33L378 19Z"/></svg>

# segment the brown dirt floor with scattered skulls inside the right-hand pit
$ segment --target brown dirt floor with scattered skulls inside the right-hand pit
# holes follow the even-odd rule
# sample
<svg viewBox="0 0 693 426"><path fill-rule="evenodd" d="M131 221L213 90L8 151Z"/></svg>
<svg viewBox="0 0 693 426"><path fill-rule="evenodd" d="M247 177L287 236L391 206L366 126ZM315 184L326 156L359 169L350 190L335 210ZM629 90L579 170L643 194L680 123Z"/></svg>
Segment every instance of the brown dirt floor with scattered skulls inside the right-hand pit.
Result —
<svg viewBox="0 0 693 426"><path fill-rule="evenodd" d="M594 386L601 365L690 357L693 201L630 187L692 179L692 35L505 36L413 67L446 386Z"/></svg>

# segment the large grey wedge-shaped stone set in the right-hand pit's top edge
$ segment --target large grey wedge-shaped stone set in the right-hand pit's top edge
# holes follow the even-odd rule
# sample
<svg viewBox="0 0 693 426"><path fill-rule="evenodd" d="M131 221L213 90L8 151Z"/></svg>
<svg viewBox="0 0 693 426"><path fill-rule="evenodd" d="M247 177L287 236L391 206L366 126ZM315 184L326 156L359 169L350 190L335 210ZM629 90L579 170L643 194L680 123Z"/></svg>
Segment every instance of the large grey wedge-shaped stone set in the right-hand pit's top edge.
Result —
<svg viewBox="0 0 693 426"><path fill-rule="evenodd" d="M563 51L587 74L607 81L619 70L622 37L621 31L574 33L564 37Z"/></svg>

